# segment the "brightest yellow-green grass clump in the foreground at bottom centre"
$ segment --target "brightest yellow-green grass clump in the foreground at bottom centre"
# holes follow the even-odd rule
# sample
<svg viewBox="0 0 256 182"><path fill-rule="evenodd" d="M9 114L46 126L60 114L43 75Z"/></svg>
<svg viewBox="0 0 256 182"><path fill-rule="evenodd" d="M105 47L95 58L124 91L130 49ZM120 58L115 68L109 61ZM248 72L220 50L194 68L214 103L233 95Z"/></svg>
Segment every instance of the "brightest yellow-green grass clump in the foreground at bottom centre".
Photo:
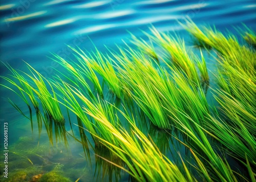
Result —
<svg viewBox="0 0 256 182"><path fill-rule="evenodd" d="M97 119L92 113L91 116ZM122 127L117 129L108 120L97 119L98 122L103 124L108 133L113 134L117 143L114 144L112 140L96 137L124 161L129 170L109 161L110 163L126 171L137 181L194 181L195 178L186 170L187 168L184 163L186 175L169 161L136 125L133 124L135 121L126 115L124 116L129 120L133 134L129 134Z"/></svg>

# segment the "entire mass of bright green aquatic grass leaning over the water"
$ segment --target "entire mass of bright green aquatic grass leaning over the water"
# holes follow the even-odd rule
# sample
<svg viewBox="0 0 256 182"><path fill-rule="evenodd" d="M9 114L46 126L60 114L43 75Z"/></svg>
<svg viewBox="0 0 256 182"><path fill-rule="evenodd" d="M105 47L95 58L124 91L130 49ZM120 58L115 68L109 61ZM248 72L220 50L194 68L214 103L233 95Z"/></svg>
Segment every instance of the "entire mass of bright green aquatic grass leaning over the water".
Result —
<svg viewBox="0 0 256 182"><path fill-rule="evenodd" d="M152 28L145 33L150 43L132 35L132 45L107 54L70 47L72 61L53 55L65 74L49 80L30 65L29 73L7 65L11 75L1 76L7 81L2 86L30 110L31 103L36 112L42 108L50 141L52 125L57 142L66 136L59 124L74 114L87 159L88 146L94 148L97 177L102 168L103 178L116 181L121 171L131 181L256 181L255 34L247 28L241 36L248 44L242 44L191 20L182 26L216 61L213 77L201 49L197 56L177 35ZM173 158L171 145L179 146ZM40 180L59 175L52 170Z"/></svg>

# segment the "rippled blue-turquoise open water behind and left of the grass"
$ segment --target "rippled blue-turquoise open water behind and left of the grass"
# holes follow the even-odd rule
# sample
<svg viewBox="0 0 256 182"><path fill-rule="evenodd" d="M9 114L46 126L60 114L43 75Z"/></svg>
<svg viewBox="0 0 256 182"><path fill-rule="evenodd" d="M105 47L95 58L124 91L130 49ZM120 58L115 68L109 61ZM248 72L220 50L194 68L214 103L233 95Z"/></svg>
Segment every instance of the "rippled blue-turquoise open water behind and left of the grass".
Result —
<svg viewBox="0 0 256 182"><path fill-rule="evenodd" d="M61 69L50 58L50 53L56 53L63 58L72 56L67 45L79 46L84 49L94 49L94 45L105 51L104 45L114 48L115 44L123 45L122 40L130 38L129 32L143 37L141 30L149 32L152 24L160 31L176 31L189 42L189 36L177 23L184 17L190 17L198 25L216 25L220 31L229 29L234 34L233 27L242 27L242 23L256 29L255 1L8 1L2 2L1 11L1 52L0 60L14 68L25 69L26 61L45 77L52 77ZM1 64L1 75L8 71ZM214 68L212 68L214 69ZM3 82L1 80L1 82ZM18 141L20 137L28 136L36 146L38 134L36 123L31 132L30 121L20 115L7 101L7 97L16 101L20 108L29 114L27 106L14 93L1 87L1 128L3 123L9 123L9 144ZM34 121L36 116L34 115ZM73 117L72 119L75 120ZM76 120L72 123L76 123ZM74 127L76 136L78 129ZM70 126L67 123L67 131ZM1 131L2 135L2 131ZM2 144L3 141L1 141ZM48 142L47 133L43 127L40 144ZM2 150L2 149L1 149ZM68 150L65 147L55 147L56 154L51 158L48 154L44 159L51 163L63 165L63 171L68 171L69 164L76 161L72 169L79 170L71 178L75 181L84 174L80 181L96 181L94 177L96 159L91 149L90 160L84 158L80 143L69 138ZM42 162L42 161L41 161ZM40 161L34 163L41 166ZM1 164L2 165L2 164ZM51 166L51 165L50 165ZM56 166L56 165L55 165ZM44 168L44 171L50 167ZM10 169L11 173L11 169ZM102 174L102 172L99 172ZM126 181L128 176L121 173L120 181ZM109 180L107 176L106 181Z"/></svg>

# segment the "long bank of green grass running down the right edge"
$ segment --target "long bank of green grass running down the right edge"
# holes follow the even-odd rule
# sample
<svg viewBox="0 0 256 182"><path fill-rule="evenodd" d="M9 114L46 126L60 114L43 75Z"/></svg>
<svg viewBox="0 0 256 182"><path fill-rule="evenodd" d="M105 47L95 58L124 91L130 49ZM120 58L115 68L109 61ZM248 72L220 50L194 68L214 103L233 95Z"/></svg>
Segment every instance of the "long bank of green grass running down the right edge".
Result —
<svg viewBox="0 0 256 182"><path fill-rule="evenodd" d="M225 153L238 158L248 171L255 173L250 167L255 166L256 156L255 53L240 45L234 36L226 38L217 30L206 28L203 33L193 22L186 26L190 33L220 53L216 75L220 89L214 91L222 117L206 117L205 132L222 144ZM251 180L255 180L254 177Z"/></svg>

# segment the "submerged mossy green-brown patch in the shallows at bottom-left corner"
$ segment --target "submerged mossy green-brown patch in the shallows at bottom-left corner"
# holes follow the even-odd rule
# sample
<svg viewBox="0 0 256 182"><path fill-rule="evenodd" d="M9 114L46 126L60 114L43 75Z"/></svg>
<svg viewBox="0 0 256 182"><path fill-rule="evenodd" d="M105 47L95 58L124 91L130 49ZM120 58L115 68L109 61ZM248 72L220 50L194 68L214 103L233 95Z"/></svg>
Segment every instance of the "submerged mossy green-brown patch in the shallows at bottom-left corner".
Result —
<svg viewBox="0 0 256 182"><path fill-rule="evenodd" d="M38 144L36 139L20 137L9 146L9 175L8 178L1 176L1 181L72 181L69 178L73 180L78 178L72 176L74 173L86 176L88 170L84 170L84 167L73 168L74 165L81 164L82 158L70 159L65 145L58 144L53 147L49 142ZM1 156L0 159L3 160L3 157ZM62 159L66 159L67 164L60 164Z"/></svg>

